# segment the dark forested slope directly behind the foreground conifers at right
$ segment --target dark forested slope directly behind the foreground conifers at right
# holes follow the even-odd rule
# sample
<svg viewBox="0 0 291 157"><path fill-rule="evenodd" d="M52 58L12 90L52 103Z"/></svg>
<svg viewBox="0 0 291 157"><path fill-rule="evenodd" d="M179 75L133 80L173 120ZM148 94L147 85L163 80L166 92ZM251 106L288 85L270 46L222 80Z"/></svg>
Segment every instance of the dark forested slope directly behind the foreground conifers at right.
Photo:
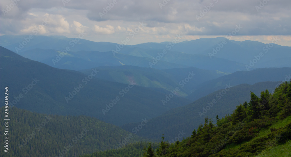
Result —
<svg viewBox="0 0 291 157"><path fill-rule="evenodd" d="M249 102L250 90L260 94L262 90L274 90L278 84L280 82L261 82L233 87L232 84L227 84L226 89L215 91L189 105L173 108L159 117L150 119L137 135L155 140L160 139L162 134L165 140L174 139L180 132L185 133L183 137L190 136L193 128L198 128L199 124L204 123L205 116L214 119L216 115L223 117L230 114L235 110L235 106L244 101ZM136 123L125 124L122 128L130 131L135 125Z"/></svg>

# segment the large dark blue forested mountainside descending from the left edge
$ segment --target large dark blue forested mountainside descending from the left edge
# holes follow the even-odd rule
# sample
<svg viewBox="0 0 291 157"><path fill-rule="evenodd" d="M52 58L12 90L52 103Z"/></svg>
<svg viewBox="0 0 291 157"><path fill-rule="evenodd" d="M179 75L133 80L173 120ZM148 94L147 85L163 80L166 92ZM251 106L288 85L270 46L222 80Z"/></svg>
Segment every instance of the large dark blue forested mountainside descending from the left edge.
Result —
<svg viewBox="0 0 291 157"><path fill-rule="evenodd" d="M141 87L135 80L121 84L100 80L92 75L90 78L81 72L53 68L3 47L0 49L1 72L9 74L1 75L1 86L11 84L11 97L17 100L13 104L19 108L46 114L87 115L120 126L156 117L170 108L191 102L182 97L173 97L167 106L163 106L161 99L164 93ZM97 69L91 69L90 74L97 75ZM34 83L36 85L26 89L33 79L38 80ZM24 97L17 98L19 94ZM3 97L0 99L3 100ZM107 107L112 103L111 100L114 103L112 108Z"/></svg>

